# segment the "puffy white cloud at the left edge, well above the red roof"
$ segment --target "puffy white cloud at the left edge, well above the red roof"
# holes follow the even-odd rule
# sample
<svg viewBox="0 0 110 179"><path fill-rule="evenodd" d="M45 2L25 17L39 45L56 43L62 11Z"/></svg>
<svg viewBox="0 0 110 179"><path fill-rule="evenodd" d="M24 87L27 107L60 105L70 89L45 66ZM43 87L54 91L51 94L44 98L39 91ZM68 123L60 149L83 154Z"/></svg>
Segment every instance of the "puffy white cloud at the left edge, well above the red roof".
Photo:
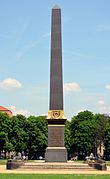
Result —
<svg viewBox="0 0 110 179"><path fill-rule="evenodd" d="M0 87L4 89L22 88L22 84L14 78L6 78L0 82Z"/></svg>

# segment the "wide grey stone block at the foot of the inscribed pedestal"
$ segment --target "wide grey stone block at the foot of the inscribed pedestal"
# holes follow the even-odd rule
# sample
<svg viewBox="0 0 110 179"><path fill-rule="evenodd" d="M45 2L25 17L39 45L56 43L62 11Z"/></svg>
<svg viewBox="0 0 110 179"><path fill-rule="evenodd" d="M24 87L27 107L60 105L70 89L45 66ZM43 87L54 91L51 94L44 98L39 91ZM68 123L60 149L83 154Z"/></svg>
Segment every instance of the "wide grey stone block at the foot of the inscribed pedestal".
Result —
<svg viewBox="0 0 110 179"><path fill-rule="evenodd" d="M67 150L65 147L47 147L45 162L67 162Z"/></svg>

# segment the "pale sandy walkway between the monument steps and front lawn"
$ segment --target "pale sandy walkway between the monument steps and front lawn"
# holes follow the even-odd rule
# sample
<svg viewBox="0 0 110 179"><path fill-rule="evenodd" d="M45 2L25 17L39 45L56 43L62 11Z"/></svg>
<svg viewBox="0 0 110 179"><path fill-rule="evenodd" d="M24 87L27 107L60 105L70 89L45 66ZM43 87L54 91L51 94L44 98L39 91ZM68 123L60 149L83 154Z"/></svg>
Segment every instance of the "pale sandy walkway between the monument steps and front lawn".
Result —
<svg viewBox="0 0 110 179"><path fill-rule="evenodd" d="M15 169L6 170L5 165L0 165L0 173L24 173L24 174L110 174L110 167L107 167L107 171L88 171L88 170L32 170L32 169Z"/></svg>

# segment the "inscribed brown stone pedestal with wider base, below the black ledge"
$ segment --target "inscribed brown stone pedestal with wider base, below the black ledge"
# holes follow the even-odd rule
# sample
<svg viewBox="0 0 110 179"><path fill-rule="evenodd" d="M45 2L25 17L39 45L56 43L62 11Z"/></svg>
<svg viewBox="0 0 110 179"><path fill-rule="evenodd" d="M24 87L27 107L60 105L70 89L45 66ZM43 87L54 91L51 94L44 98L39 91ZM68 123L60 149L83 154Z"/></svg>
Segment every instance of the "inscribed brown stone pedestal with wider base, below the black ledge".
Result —
<svg viewBox="0 0 110 179"><path fill-rule="evenodd" d="M48 147L46 162L67 162L67 150L64 147L64 125L48 125Z"/></svg>

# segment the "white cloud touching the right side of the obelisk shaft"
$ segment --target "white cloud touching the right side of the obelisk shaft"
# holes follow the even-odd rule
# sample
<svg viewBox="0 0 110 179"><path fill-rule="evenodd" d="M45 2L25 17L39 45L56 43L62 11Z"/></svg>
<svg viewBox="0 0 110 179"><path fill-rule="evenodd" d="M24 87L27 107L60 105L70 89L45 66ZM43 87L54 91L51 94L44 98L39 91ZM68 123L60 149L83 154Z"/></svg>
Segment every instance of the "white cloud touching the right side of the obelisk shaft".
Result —
<svg viewBox="0 0 110 179"><path fill-rule="evenodd" d="M81 91L78 83L65 83L64 84L65 92L79 92Z"/></svg>

